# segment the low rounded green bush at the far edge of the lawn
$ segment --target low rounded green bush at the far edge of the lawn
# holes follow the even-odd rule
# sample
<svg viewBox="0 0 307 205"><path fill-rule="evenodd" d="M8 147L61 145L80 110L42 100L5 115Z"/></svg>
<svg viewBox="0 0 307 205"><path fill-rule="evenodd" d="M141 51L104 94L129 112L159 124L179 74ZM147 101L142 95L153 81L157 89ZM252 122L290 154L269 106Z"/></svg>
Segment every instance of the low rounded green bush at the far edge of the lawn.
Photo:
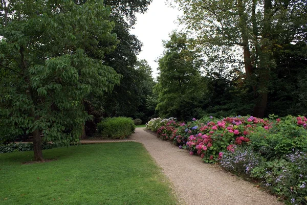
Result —
<svg viewBox="0 0 307 205"><path fill-rule="evenodd" d="M97 124L98 132L102 138L124 139L135 131L135 124L132 119L118 117L106 118Z"/></svg>

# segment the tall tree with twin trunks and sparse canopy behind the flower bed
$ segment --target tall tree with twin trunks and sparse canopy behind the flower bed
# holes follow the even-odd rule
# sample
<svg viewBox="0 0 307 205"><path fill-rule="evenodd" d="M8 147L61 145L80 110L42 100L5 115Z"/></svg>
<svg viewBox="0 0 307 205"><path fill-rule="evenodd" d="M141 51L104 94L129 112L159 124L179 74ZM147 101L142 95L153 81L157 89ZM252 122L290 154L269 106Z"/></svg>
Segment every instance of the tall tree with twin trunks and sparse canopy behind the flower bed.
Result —
<svg viewBox="0 0 307 205"><path fill-rule="evenodd" d="M227 50L234 47L242 50L245 79L256 102L253 115L263 117L268 95L274 91L270 90L272 75L280 66L275 54L286 52L290 44L300 44L301 51L306 48L306 3L299 0L176 2L184 11L182 22L195 32L198 45L204 50L214 51L218 47L221 55L227 55Z"/></svg>

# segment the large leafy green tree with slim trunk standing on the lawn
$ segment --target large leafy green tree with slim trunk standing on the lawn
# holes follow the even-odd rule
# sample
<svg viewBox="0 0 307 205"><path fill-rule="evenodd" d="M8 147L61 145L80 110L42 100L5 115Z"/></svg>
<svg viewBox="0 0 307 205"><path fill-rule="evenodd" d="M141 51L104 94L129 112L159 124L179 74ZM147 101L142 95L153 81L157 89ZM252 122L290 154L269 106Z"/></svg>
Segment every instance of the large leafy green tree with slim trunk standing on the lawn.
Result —
<svg viewBox="0 0 307 205"><path fill-rule="evenodd" d="M0 117L6 130L0 135L31 133L36 161L43 160L42 139L60 145L77 142L81 125L90 118L84 97L102 95L119 82L101 60L117 42L110 12L100 0L82 5L2 1Z"/></svg>

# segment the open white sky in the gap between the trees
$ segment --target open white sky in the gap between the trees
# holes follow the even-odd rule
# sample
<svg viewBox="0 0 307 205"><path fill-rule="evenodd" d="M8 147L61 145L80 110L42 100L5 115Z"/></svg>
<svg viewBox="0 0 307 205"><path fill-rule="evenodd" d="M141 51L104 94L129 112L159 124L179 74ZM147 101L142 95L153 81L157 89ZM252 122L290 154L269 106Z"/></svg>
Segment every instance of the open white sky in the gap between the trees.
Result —
<svg viewBox="0 0 307 205"><path fill-rule="evenodd" d="M167 6L165 0L153 0L145 14L136 15L137 23L130 33L143 43L138 58L148 61L154 78L158 76L158 63L155 61L164 51L162 40L168 40L172 30L180 29L176 23L179 15L181 11Z"/></svg>

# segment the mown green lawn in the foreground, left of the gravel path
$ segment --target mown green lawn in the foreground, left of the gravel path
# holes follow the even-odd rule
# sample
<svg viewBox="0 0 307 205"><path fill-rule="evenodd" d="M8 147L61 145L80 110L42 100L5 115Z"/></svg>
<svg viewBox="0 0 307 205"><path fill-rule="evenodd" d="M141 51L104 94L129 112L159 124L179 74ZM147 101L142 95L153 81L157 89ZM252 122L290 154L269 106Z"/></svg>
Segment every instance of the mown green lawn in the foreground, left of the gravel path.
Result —
<svg viewBox="0 0 307 205"><path fill-rule="evenodd" d="M134 142L0 154L0 204L177 204L145 148Z"/></svg>

